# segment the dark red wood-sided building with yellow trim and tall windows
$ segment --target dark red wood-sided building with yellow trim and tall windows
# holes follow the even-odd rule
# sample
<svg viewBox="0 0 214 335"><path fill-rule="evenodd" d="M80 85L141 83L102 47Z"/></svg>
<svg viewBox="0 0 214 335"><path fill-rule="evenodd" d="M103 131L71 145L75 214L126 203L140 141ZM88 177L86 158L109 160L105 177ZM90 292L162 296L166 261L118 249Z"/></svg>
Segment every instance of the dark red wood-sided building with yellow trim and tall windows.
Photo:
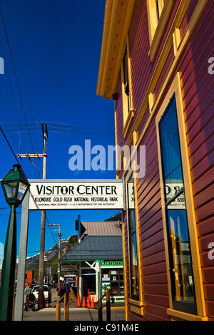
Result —
<svg viewBox="0 0 214 335"><path fill-rule="evenodd" d="M126 185L126 320L214 321L213 14L106 0L96 93L114 100Z"/></svg>

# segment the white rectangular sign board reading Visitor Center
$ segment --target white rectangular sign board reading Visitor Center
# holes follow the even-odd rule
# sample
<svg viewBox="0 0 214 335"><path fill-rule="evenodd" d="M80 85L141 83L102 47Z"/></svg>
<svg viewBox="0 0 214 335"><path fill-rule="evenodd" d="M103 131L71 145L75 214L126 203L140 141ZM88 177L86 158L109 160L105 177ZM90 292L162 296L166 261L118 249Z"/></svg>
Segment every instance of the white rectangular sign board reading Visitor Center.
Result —
<svg viewBox="0 0 214 335"><path fill-rule="evenodd" d="M123 182L31 182L29 210L123 209Z"/></svg>

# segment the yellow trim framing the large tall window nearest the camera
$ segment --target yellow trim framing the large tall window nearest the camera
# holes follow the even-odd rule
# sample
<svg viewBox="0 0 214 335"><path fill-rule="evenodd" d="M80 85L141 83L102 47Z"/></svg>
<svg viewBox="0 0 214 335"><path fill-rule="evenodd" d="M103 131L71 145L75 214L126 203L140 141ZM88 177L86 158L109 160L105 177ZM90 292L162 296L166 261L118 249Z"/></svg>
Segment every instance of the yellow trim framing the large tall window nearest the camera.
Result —
<svg viewBox="0 0 214 335"><path fill-rule="evenodd" d="M200 267L200 254L198 247L198 234L196 228L195 220L195 210L193 202L193 190L192 182L190 176L190 165L189 165L189 155L188 155L188 145L186 140L185 132L185 122L183 117L183 99L180 85L180 73L176 73L168 93L163 100L163 103L160 107L160 110L156 116L156 131L157 131L157 142L158 142L158 161L159 161L159 172L160 172L160 182L161 182L161 205L162 205L162 215L163 215L163 232L164 232L164 241L165 241L165 257L166 264L168 269L168 288L169 288L169 297L170 297L170 310L173 310L173 301L170 289L170 265L168 257L168 237L166 230L166 220L165 220L165 203L164 203L164 190L163 190L163 178L162 178L162 166L161 166L161 148L160 148L160 137L158 130L158 123L161 120L161 117L167 108L167 105L170 101L170 98L175 93L175 102L178 115L178 129L180 137L180 151L183 164L183 182L185 188L185 199L186 199L186 211L188 215L188 228L190 234L190 245L191 245L191 256L193 261L193 276L195 283L195 300L197 305L198 316L205 317L205 301L203 294L203 279Z"/></svg>

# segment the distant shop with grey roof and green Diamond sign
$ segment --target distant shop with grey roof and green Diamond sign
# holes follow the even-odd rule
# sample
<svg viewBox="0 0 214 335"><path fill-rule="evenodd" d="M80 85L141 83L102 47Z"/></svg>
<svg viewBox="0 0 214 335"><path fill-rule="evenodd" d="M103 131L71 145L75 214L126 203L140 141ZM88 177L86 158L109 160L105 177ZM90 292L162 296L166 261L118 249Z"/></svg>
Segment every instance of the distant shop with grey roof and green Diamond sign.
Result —
<svg viewBox="0 0 214 335"><path fill-rule="evenodd" d="M94 301L110 287L113 301L124 301L120 221L76 221L79 243L60 258L61 272L76 271L77 294Z"/></svg>

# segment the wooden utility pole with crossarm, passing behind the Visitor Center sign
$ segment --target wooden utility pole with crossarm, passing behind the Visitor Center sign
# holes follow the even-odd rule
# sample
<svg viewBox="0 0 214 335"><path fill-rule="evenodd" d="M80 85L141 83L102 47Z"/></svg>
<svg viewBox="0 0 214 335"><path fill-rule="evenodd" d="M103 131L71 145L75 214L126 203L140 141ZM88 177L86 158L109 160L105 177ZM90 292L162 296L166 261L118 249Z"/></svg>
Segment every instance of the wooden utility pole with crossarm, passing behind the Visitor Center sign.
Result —
<svg viewBox="0 0 214 335"><path fill-rule="evenodd" d="M44 138L44 153L33 153L33 154L20 154L17 156L21 158L43 158L43 179L46 179L46 163L47 163L47 138L48 138L48 128L47 123L44 130L44 124L41 123L43 138ZM46 211L41 212L41 237L40 237L40 255L39 255L39 299L38 308L43 308L43 295L44 295L44 244L45 244L45 227L46 227Z"/></svg>

